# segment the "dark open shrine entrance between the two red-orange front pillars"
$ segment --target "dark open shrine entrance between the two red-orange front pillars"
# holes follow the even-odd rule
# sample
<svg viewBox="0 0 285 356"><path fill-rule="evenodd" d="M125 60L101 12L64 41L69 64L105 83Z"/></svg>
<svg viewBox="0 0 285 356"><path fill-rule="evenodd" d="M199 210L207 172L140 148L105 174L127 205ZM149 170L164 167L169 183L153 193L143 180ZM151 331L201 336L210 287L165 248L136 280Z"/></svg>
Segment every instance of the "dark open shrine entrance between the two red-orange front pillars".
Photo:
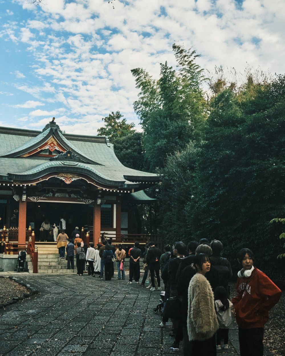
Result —
<svg viewBox="0 0 285 356"><path fill-rule="evenodd" d="M68 236L75 229L76 226L79 230L93 229L93 209L92 204L78 204L78 203L55 203L55 202L27 202L27 217L26 225L31 226L35 231L35 240L39 241L40 227L47 219L50 225L56 224L59 226L60 218L66 220L66 233ZM53 241L53 235L50 236Z"/></svg>

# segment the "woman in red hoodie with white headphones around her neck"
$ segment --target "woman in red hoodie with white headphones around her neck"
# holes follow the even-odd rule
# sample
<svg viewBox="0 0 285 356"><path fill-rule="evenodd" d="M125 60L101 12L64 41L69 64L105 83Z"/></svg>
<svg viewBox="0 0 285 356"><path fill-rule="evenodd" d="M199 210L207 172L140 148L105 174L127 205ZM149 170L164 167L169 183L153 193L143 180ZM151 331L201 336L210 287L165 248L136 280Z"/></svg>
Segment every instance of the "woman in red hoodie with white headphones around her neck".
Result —
<svg viewBox="0 0 285 356"><path fill-rule="evenodd" d="M240 356L263 356L264 325L268 312L281 297L281 290L266 274L253 267L253 253L238 253L242 270L238 272L237 297L232 299L239 326Z"/></svg>

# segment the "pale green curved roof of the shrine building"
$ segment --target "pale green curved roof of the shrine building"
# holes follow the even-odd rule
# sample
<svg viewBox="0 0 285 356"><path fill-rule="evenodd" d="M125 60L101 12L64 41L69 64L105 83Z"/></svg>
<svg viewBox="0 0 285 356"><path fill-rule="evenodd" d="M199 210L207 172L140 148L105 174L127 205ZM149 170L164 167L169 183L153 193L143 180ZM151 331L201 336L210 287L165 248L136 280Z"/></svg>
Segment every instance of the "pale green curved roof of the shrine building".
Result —
<svg viewBox="0 0 285 356"><path fill-rule="evenodd" d="M50 161L50 157L39 156L1 157L36 145L45 139L48 132L49 130L36 132L0 127L0 179L15 180L17 177L17 180L26 180L24 177L40 177L46 172L62 172L64 169L64 172L81 172L98 182L118 187L136 188L142 182L158 181L154 173L123 166L114 153L113 145L102 136L66 135L67 140L65 135L56 130L57 138L64 141L64 146L71 147L81 158L85 157L83 161L86 163L62 159Z"/></svg>

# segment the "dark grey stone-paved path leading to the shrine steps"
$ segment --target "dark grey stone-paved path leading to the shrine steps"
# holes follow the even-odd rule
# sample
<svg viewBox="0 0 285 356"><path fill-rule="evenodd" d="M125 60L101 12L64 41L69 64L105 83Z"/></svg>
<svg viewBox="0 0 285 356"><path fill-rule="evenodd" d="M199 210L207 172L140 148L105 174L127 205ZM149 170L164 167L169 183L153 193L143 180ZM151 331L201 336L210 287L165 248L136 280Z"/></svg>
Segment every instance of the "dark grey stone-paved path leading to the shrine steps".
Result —
<svg viewBox="0 0 285 356"><path fill-rule="evenodd" d="M3 273L4 274L4 273ZM173 338L152 309L159 292L127 280L99 280L84 274L12 274L40 294L0 311L0 355L170 356ZM230 348L239 355L236 324ZM182 345L181 345L182 346Z"/></svg>

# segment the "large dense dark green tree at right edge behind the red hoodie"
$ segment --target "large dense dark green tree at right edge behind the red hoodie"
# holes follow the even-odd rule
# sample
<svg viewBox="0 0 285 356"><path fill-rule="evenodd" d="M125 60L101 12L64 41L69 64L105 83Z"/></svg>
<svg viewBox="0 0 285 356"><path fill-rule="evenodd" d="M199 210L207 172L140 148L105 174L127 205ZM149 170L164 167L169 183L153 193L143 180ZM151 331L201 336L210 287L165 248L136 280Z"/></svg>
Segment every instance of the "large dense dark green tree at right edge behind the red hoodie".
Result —
<svg viewBox="0 0 285 356"><path fill-rule="evenodd" d="M237 90L213 97L185 208L192 236L220 239L232 261L239 248L252 248L271 276L278 247L267 222L283 213L285 198L284 83L284 76L257 82L248 75Z"/></svg>

